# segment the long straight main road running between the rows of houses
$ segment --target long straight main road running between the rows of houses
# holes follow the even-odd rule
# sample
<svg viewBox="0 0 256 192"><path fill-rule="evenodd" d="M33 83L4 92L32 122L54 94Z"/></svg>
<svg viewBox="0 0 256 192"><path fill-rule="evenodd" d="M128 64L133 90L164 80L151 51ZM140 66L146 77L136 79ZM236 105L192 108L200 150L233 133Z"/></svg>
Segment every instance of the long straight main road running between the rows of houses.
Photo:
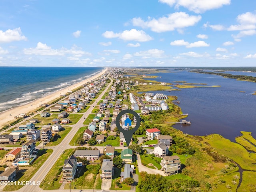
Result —
<svg viewBox="0 0 256 192"><path fill-rule="evenodd" d="M109 86L112 84L113 80L110 78L110 83L105 88L105 90L100 94L99 98L102 98L106 91L108 90ZM90 108L84 113L82 118L73 126L73 128L70 130L68 135L62 140L60 144L58 144L58 147L52 148L53 152L48 157L48 159L42 164L42 166L38 169L38 171L34 174L34 176L30 179L30 181L40 181L40 183L44 180L48 172L51 170L52 166L55 164L55 162L58 160L60 155L64 152L64 150L70 148L70 141L75 136L76 132L80 127L83 127L84 124L84 118L87 118L89 114L91 114L92 110L94 109L94 106L97 105L98 100L95 100L94 103L91 104ZM20 192L35 192L35 191L44 191L39 186L23 186L20 190ZM63 190L64 191L64 190ZM73 191L73 190L72 190ZM79 191L79 190L78 190Z"/></svg>

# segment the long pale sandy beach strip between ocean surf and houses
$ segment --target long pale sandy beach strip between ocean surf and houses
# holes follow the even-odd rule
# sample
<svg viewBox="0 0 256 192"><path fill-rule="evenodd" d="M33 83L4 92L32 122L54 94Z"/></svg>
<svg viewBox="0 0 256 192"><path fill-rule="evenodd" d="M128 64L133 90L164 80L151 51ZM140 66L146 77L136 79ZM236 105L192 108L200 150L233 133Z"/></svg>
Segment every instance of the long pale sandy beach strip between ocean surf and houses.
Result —
<svg viewBox="0 0 256 192"><path fill-rule="evenodd" d="M36 108L38 108L41 104L43 103L48 103L56 98L58 98L59 96L66 94L68 91L74 90L80 86L82 86L83 84L101 76L102 74L104 74L108 69L104 68L104 70L102 70L101 72L99 72L98 74L83 80L82 82L76 83L74 85L68 86L60 91L57 92L53 92L45 97L42 98L38 98L28 104L22 105L22 106L18 106L15 108L12 108L10 110L4 111L0 113L0 127L2 127L4 124L6 124L9 121L13 121L15 120L14 116L17 116L21 113L28 113L30 111L35 110ZM10 114L12 114L10 116Z"/></svg>

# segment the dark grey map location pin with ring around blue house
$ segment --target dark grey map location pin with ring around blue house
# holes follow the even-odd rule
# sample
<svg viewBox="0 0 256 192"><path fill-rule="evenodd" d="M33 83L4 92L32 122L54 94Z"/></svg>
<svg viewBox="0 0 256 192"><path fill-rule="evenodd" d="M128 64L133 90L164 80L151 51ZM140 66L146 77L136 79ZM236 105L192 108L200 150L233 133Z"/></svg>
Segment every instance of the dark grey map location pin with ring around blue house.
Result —
<svg viewBox="0 0 256 192"><path fill-rule="evenodd" d="M120 118L122 117L122 115L126 114L126 113L130 113L133 114L134 117L136 118L137 122L136 122L136 126L132 129L132 130L124 130L121 126L120 126ZM116 116L116 127L118 128L118 130L120 132L122 132L124 134L124 138L126 141L127 146L129 146L130 141L132 139L132 134L134 134L134 132L136 132L136 130L138 130L138 128L140 127L140 116L138 115L138 113L136 113L133 110L130 109L126 109L121 111L120 113L118 113L118 115Z"/></svg>

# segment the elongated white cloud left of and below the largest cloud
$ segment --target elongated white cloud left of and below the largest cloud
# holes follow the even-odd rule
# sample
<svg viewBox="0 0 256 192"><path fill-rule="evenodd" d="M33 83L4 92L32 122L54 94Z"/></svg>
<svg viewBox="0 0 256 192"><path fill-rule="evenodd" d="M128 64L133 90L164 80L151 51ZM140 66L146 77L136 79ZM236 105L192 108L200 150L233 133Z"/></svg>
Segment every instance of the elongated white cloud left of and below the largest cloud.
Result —
<svg viewBox="0 0 256 192"><path fill-rule="evenodd" d="M119 38L124 41L139 41L146 42L153 38L146 34L143 30L131 29L125 30L122 33L114 33L113 31L106 31L102 34L105 38Z"/></svg>

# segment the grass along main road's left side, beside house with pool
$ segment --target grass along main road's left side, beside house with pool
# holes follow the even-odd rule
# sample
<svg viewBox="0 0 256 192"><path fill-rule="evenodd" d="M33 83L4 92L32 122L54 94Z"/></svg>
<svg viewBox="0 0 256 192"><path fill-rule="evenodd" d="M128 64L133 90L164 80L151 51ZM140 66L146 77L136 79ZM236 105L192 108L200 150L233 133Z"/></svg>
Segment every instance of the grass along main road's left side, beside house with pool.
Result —
<svg viewBox="0 0 256 192"><path fill-rule="evenodd" d="M19 172L16 176L17 181L29 181L37 170L44 164L47 158L52 154L52 149L40 149L38 151L38 158L30 166L20 166ZM15 191L22 188L22 185L9 185L3 191Z"/></svg>

